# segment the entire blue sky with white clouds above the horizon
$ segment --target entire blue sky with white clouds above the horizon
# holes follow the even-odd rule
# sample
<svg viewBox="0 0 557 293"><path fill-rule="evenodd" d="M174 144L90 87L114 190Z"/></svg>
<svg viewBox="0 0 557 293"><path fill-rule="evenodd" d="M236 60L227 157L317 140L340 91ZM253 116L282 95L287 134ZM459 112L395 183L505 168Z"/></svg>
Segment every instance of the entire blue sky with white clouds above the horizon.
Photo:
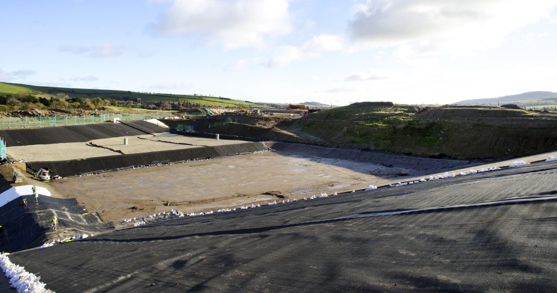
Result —
<svg viewBox="0 0 557 293"><path fill-rule="evenodd" d="M557 92L557 0L0 0L0 81L252 102Z"/></svg>

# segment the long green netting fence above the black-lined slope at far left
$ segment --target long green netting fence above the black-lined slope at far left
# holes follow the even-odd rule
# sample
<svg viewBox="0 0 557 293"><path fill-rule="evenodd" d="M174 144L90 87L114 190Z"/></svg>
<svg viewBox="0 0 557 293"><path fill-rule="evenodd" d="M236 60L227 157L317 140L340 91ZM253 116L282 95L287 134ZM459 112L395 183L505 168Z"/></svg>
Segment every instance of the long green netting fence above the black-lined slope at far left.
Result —
<svg viewBox="0 0 557 293"><path fill-rule="evenodd" d="M61 125L82 125L113 121L114 118L120 120L143 120L149 118L163 118L172 116L169 113L106 113L101 115L60 115L53 117L2 117L0 118L0 128L19 128L19 127L42 127L42 126L61 126Z"/></svg>

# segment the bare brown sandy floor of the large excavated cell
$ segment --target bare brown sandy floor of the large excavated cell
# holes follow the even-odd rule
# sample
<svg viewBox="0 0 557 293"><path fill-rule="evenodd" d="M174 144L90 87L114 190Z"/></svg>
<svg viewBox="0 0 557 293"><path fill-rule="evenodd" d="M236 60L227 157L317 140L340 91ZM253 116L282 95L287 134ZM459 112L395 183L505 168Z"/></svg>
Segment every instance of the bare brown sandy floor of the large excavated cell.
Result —
<svg viewBox="0 0 557 293"><path fill-rule="evenodd" d="M104 220L120 221L170 208L216 211L331 195L386 184L392 181L388 177L400 172L412 170L263 152L64 178L50 186L66 197L76 197Z"/></svg>

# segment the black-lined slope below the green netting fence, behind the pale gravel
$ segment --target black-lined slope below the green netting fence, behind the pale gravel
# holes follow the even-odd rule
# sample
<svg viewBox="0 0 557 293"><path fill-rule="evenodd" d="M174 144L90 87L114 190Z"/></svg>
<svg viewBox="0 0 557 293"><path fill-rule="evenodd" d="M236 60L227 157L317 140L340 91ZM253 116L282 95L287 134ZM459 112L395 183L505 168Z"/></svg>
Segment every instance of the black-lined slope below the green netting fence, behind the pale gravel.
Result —
<svg viewBox="0 0 557 293"><path fill-rule="evenodd" d="M50 145L52 143L86 142L100 138L145 135L168 132L167 129L145 121L125 123L98 123L88 125L53 126L0 130L7 147Z"/></svg>

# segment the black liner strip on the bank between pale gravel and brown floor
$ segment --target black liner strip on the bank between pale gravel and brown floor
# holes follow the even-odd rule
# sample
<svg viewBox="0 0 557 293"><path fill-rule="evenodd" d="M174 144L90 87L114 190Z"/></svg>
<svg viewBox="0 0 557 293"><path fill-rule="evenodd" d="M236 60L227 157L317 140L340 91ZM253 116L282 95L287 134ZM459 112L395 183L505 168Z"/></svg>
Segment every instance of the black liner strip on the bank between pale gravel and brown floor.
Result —
<svg viewBox="0 0 557 293"><path fill-rule="evenodd" d="M80 175L91 172L101 172L129 168L133 166L154 165L157 163L179 162L199 158L224 157L265 151L260 142L238 143L236 145L222 145L210 147L186 148L160 152L130 153L108 157L94 157L81 160L27 162L27 172L36 173L40 168L48 168L55 175L62 177Z"/></svg>

